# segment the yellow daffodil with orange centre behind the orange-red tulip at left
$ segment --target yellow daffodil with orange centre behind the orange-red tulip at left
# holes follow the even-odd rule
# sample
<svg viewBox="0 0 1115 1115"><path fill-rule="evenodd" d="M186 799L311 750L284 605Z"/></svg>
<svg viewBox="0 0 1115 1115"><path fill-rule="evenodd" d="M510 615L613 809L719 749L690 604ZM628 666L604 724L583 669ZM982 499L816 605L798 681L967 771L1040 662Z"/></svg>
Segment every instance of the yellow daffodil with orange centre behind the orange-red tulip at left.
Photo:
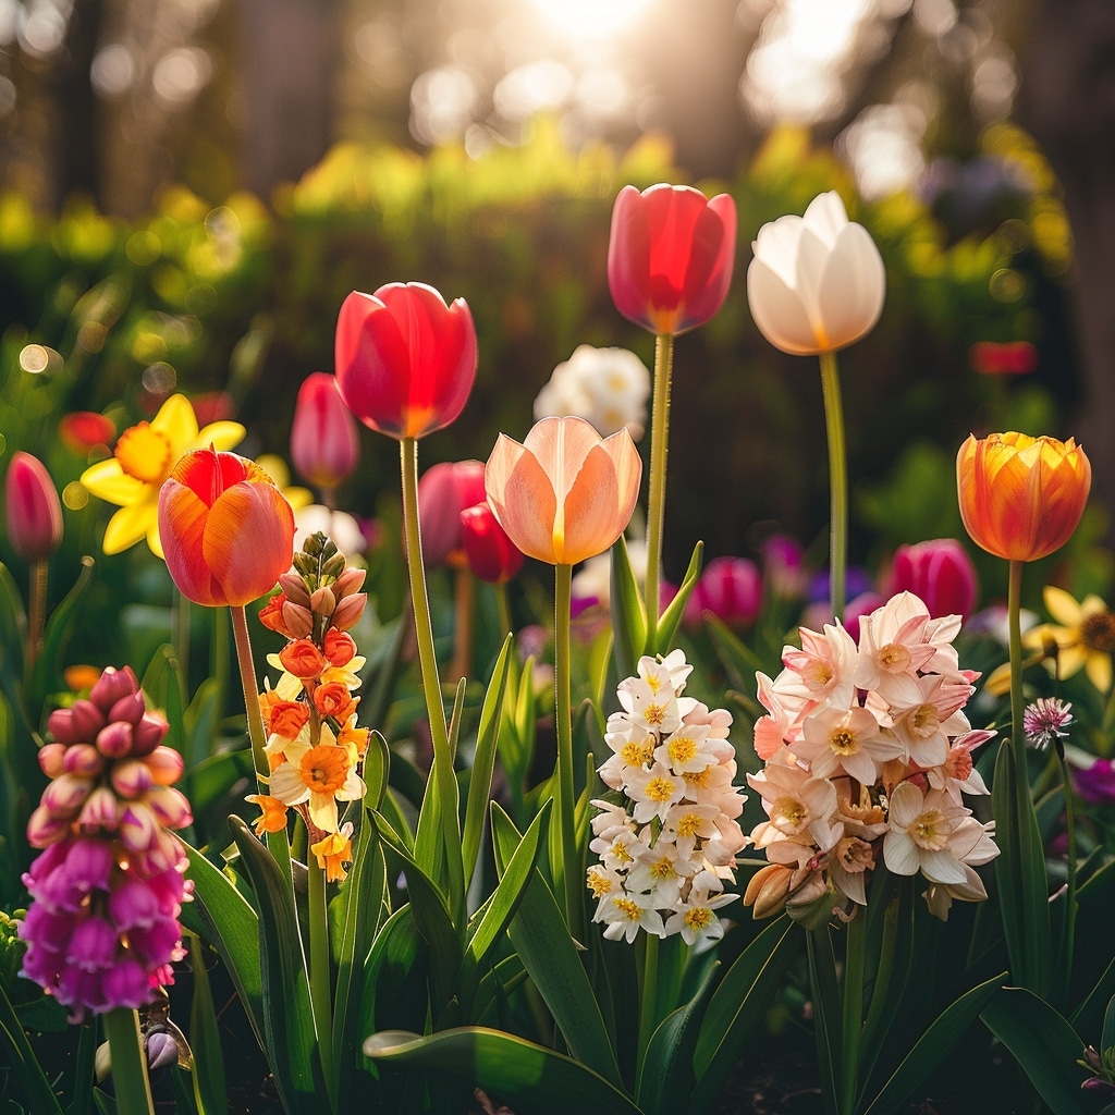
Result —
<svg viewBox="0 0 1115 1115"><path fill-rule="evenodd" d="M186 453L210 446L231 449L244 434L239 421L215 421L198 429L197 416L184 395L172 395L149 423L126 429L113 456L81 474L81 484L90 494L120 508L105 529L105 553L120 553L146 535L152 553L162 558L158 489L163 481Z"/></svg>

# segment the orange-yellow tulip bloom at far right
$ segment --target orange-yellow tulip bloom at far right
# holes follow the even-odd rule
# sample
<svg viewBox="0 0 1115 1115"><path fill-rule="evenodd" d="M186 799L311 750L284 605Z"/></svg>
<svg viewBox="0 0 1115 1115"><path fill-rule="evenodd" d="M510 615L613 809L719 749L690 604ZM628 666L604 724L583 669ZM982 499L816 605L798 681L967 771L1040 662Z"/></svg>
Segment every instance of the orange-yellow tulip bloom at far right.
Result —
<svg viewBox="0 0 1115 1115"><path fill-rule="evenodd" d="M1088 501L1092 465L1073 438L969 436L957 454L960 515L988 553L1037 561L1060 549Z"/></svg>

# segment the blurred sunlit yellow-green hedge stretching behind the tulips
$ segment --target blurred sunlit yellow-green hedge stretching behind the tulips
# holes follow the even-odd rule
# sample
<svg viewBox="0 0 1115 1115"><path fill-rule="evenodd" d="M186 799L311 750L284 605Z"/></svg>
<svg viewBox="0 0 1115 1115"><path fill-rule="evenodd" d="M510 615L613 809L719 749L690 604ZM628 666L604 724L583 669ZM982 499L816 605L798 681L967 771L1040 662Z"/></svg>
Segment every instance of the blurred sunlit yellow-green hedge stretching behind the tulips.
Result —
<svg viewBox="0 0 1115 1115"><path fill-rule="evenodd" d="M711 556L746 553L772 524L806 542L822 536L815 362L759 337L744 277L758 227L803 212L823 190L840 190L888 268L880 326L841 358L850 472L862 489L854 560L956 525L954 500L941 491L948 479L940 468L911 473L911 454L950 462L970 430L989 426L1069 433L1053 428L1076 391L1061 285L1070 246L1055 184L1010 128L989 133L980 161L978 188L964 167L942 164L931 196L864 204L831 153L783 130L735 181L698 183L735 196L740 239L728 304L677 345L668 575L697 539ZM576 345L622 345L650 363L652 339L614 310L604 263L617 191L658 181L685 181L661 140L572 154L539 122L525 146L477 161L455 148L340 147L270 207L243 194L214 207L175 188L153 201L148 219L127 224L79 201L46 220L17 196L0 198L0 467L13 449L29 449L48 459L61 488L87 464L57 442L64 414L104 411L123 429L171 389L201 409L214 406L209 392L226 392L220 404L251 432L243 452L285 454L298 385L332 368L343 297L415 280L466 298L481 345L469 404L424 443L421 465L486 457L497 432L526 433L535 394ZM1027 382L970 369L975 342L1019 339L1040 355ZM47 350L46 370L21 367L29 345ZM342 500L371 514L397 487L397 450L368 432L363 449ZM880 485L903 467L928 477L928 489L888 497ZM112 508L103 510L100 522Z"/></svg>

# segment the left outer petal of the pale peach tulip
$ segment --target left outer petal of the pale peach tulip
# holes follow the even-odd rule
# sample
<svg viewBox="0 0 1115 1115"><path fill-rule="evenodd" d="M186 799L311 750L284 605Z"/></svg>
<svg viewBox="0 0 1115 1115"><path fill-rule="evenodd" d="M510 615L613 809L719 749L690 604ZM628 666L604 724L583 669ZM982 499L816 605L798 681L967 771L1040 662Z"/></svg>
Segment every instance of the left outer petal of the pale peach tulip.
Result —
<svg viewBox="0 0 1115 1115"><path fill-rule="evenodd" d="M529 558L555 565L553 524L558 500L534 454L501 434L484 468L484 487L511 541Z"/></svg>

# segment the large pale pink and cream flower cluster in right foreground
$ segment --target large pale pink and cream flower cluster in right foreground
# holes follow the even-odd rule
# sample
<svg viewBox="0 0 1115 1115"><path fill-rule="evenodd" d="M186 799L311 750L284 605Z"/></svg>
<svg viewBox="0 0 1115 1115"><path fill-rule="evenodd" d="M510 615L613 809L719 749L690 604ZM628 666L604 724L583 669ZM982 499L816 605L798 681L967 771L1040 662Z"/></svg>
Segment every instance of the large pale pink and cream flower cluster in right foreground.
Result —
<svg viewBox="0 0 1115 1115"><path fill-rule="evenodd" d="M995 733L963 714L979 675L959 668L959 615L931 619L903 592L860 620L859 646L840 624L802 628L778 677L756 675L768 714L755 726L766 767L747 776L767 815L752 838L768 865L744 895L756 917L826 895L865 905L880 856L895 875L921 872L942 920L953 899L987 898L973 869L999 854L995 822L962 795L988 792L971 753Z"/></svg>

